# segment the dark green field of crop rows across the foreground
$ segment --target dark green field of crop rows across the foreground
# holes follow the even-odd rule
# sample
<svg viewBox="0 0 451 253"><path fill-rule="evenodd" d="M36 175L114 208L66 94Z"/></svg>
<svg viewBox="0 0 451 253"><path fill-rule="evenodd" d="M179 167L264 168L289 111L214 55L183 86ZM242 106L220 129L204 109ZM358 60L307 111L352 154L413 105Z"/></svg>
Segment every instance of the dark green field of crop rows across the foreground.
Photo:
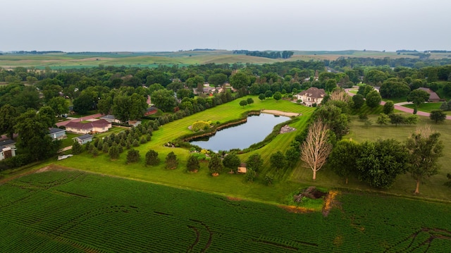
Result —
<svg viewBox="0 0 451 253"><path fill-rule="evenodd" d="M341 194L328 216L80 171L0 185L0 252L449 252L451 206Z"/></svg>

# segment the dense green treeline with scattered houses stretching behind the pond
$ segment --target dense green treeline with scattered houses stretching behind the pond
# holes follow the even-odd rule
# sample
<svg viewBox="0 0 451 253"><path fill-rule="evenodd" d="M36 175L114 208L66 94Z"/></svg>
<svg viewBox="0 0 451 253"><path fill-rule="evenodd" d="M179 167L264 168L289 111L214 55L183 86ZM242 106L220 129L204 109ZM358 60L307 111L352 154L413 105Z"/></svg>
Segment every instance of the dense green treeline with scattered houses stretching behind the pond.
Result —
<svg viewBox="0 0 451 253"><path fill-rule="evenodd" d="M376 67L365 66L366 61ZM121 121L129 121L142 118L148 108L147 101L151 99L152 104L166 113L161 117L163 123L204 111L246 94L259 95L261 99L272 97L273 94L290 98L309 87L332 92L335 87L352 87L362 81L369 86L363 87L359 93L366 101L374 101L373 104L376 105L380 96L373 96L373 86L381 87L382 97L390 99L409 96L418 87L428 87L442 98L451 97L450 65L391 68L392 63L397 61L402 65L416 60L339 58L331 62L290 61L245 66L210 63L157 68L99 65L97 68L57 71L51 68L42 71L23 67L1 69L0 82L6 82L7 85L0 87L0 129L10 137L13 137L13 133L27 129L30 132L22 133L23 136L29 136L27 139L44 140L42 136L45 129L54 126L56 116L69 113L70 105L73 105L71 108L75 113L113 113ZM429 60L416 63L439 65L438 61ZM328 71L326 66L342 71ZM207 82L208 85L205 86ZM224 86L225 83L230 83L230 86ZM374 98L369 99L368 94ZM357 99L352 102L354 105L359 104ZM347 106L334 102L333 106L325 106L322 111L331 115L342 114L337 108L341 111L349 110ZM326 109L329 111L325 111ZM39 117L32 117L37 111ZM20 121L20 118L35 118L39 124L34 128L24 128L23 125L19 127L19 123L28 122ZM340 132L343 127L340 124L335 126L337 141L345 134ZM33 132L36 128L44 130ZM32 156L27 156L32 161L44 159L56 150L56 147L49 144L41 146L47 149L34 150L30 144L32 142L23 138L18 142L23 142L18 144L18 147L22 147L24 152L33 152Z"/></svg>

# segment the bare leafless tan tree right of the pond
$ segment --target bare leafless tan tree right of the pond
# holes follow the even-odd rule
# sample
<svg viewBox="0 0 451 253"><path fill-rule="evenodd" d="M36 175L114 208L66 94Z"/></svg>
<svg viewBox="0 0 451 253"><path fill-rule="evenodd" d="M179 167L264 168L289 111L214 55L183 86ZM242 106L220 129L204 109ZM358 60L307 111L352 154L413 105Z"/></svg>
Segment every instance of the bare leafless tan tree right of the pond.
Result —
<svg viewBox="0 0 451 253"><path fill-rule="evenodd" d="M316 180L316 171L326 163L332 151L332 144L328 142L329 127L321 120L315 121L309 127L307 138L301 147L301 159L313 171L313 180Z"/></svg>

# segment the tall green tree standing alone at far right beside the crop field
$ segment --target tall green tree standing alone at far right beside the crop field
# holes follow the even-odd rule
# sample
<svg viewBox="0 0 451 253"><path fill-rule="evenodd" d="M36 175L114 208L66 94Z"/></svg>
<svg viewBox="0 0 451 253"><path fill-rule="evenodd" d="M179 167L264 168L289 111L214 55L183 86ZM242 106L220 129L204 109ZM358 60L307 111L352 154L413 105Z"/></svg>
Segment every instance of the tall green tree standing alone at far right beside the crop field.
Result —
<svg viewBox="0 0 451 253"><path fill-rule="evenodd" d="M440 132L433 132L429 125L417 128L407 139L409 150L407 171L416 181L415 194L419 194L420 183L431 175L438 173L438 158L443 156L443 143L439 140Z"/></svg>

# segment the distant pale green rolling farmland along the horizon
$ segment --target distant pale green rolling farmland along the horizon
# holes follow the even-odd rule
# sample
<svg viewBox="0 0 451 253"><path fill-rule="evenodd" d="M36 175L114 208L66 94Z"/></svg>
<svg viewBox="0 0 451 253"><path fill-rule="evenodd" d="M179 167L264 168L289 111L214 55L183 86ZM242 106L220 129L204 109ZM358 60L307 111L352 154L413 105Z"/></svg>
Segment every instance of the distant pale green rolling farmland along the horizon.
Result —
<svg viewBox="0 0 451 253"><path fill-rule="evenodd" d="M85 53L56 53L56 54L4 54L0 55L1 68L34 67L44 69L64 68L92 68L103 64L104 66L134 66L153 68L163 65L187 66L206 63L275 63L279 61L333 61L343 57L370 57L370 58L416 58L417 56L397 54L382 51L295 51L292 58L272 59L245 54L233 54L233 51L177 51L177 52L85 52ZM449 57L447 54L432 54L431 58Z"/></svg>

